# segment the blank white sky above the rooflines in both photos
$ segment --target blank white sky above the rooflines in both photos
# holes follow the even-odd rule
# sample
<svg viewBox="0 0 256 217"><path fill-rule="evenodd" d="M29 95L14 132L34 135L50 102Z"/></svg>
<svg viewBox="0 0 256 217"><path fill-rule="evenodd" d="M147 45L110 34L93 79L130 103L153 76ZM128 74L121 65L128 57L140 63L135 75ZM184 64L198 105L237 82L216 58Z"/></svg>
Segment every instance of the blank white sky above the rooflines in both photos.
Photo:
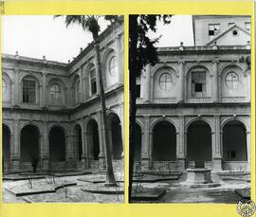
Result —
<svg viewBox="0 0 256 217"><path fill-rule="evenodd" d="M109 23L100 20L101 31ZM170 25L157 24L157 33L162 35L157 46L193 45L192 16L175 15ZM91 33L79 25L65 27L64 17L50 15L5 15L2 16L2 53L68 63L92 42Z"/></svg>

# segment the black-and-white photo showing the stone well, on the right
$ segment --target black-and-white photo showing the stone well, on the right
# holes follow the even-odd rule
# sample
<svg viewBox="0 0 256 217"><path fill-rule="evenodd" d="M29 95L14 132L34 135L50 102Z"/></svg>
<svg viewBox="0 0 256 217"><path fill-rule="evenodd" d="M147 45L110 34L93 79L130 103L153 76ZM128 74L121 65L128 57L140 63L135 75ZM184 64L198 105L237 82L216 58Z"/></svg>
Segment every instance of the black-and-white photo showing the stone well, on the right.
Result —
<svg viewBox="0 0 256 217"><path fill-rule="evenodd" d="M250 198L250 16L129 16L129 202Z"/></svg>

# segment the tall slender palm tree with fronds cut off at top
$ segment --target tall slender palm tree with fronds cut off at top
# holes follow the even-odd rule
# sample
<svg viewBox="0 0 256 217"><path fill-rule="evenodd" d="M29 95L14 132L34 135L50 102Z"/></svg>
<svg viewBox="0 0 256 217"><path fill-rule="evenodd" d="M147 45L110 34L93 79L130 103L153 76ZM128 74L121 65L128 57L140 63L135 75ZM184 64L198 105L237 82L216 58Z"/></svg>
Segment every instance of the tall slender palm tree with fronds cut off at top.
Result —
<svg viewBox="0 0 256 217"><path fill-rule="evenodd" d="M54 17L59 17L60 15L56 15ZM117 182L115 179L115 175L113 172L113 165L112 165L112 154L110 148L110 141L109 136L106 132L107 126L107 119L106 119L106 104L105 104L105 94L104 94L104 87L103 87L103 78L102 78L102 69L101 69L101 51L100 51L100 40L99 40L99 32L100 32L100 25L99 25L99 15L66 15L65 16L65 25L68 27L71 24L79 24L82 26L83 30L89 30L92 33L93 41L94 41L94 48L96 50L96 58L97 58L97 65L98 65L98 75L99 75L99 82L100 82L100 96L101 96L101 110L102 110L102 118L103 118L103 137L105 139L105 150L106 150L106 186L116 186ZM106 20L110 21L111 23L118 20L118 16L105 16Z"/></svg>

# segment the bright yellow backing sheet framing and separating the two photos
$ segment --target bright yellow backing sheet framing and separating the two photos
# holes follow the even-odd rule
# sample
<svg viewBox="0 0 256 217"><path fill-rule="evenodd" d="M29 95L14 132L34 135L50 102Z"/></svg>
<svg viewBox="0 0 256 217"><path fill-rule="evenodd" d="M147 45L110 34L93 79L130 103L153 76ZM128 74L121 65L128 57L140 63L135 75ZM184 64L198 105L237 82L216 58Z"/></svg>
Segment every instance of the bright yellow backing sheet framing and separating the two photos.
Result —
<svg viewBox="0 0 256 217"><path fill-rule="evenodd" d="M91 216L239 216L236 205L226 204L128 204L129 75L128 14L236 14L251 15L254 39L253 1L13 1L5 2L5 15L119 14L124 15L124 121L125 204L0 204L0 216L91 217ZM0 20L1 21L1 20ZM0 22L1 25L1 22ZM255 45L251 40L251 199L255 202ZM0 59L1 62L1 59ZM0 80L0 82L2 79ZM2 88L1 88L2 89ZM0 94L0 104L2 94ZM2 116L2 115L1 115ZM2 119L2 118L1 118ZM0 125L0 134L2 124ZM2 140L2 136L0 138ZM2 148L2 146L1 146ZM0 148L0 152L1 152ZM1 164L2 165L2 164ZM0 166L1 167L1 166ZM2 179L1 179L2 180ZM0 189L1 190L1 189ZM1 192L2 195L2 192Z"/></svg>

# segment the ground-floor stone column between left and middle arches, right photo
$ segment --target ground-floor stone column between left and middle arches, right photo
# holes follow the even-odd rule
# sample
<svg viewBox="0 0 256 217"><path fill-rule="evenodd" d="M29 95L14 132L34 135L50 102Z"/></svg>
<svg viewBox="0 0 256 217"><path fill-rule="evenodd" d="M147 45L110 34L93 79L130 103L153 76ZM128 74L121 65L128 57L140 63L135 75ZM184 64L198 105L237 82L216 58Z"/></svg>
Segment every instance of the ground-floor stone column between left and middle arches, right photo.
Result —
<svg viewBox="0 0 256 217"><path fill-rule="evenodd" d="M184 127L185 120L184 116L178 117L178 131L176 132L176 158L177 168L180 171L185 171L185 138L184 138Z"/></svg>

